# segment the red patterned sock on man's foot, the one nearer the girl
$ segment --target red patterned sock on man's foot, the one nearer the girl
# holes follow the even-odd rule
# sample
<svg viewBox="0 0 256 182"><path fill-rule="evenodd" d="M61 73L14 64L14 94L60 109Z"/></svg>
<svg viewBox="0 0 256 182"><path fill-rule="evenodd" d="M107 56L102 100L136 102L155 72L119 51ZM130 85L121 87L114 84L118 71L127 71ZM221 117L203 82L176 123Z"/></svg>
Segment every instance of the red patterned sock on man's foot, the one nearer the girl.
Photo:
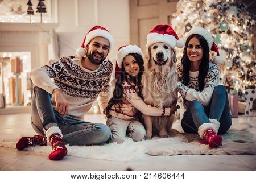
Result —
<svg viewBox="0 0 256 182"><path fill-rule="evenodd" d="M50 144L52 146L52 152L49 154L49 159L60 160L67 155L68 150L60 134L51 135Z"/></svg>

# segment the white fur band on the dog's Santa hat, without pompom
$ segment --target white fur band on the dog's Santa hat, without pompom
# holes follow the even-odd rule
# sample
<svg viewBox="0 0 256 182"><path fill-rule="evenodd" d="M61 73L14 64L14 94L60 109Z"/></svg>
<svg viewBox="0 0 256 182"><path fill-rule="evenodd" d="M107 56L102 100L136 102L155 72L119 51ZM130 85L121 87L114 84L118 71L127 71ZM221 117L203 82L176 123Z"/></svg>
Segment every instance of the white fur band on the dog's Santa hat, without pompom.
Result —
<svg viewBox="0 0 256 182"><path fill-rule="evenodd" d="M176 38L169 34L158 34L158 33L150 33L147 35L147 44L146 47L150 47L152 44L157 42L167 43L171 48L175 48L176 46Z"/></svg>

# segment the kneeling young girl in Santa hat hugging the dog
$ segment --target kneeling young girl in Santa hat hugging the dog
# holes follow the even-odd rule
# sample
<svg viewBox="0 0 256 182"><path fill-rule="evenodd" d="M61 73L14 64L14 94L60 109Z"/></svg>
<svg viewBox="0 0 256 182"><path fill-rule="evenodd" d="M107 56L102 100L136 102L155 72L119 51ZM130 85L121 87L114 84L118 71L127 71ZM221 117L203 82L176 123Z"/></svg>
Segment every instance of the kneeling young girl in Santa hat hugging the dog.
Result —
<svg viewBox="0 0 256 182"><path fill-rule="evenodd" d="M177 106L165 109L151 107L142 100L141 78L144 71L142 57L143 53L138 46L122 46L118 49L117 65L121 71L115 70L117 83L113 97L104 110L108 118L106 124L112 132L110 142L123 143L126 137L133 138L135 142L144 139L146 131L138 121L141 119L141 113L169 116L177 110ZM120 73L119 76L117 73Z"/></svg>

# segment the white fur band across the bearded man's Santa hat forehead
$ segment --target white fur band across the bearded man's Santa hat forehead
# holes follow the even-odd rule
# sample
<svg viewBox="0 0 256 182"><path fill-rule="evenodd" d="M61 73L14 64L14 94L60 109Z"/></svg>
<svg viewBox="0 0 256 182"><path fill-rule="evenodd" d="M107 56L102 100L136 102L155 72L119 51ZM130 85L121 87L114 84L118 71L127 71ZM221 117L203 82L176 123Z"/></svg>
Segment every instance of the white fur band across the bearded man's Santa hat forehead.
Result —
<svg viewBox="0 0 256 182"><path fill-rule="evenodd" d="M109 40L109 52L110 49L113 46L114 43L114 39L113 36L106 30L102 30L102 29L97 29L97 30L92 30L90 32L88 32L88 34L86 34L86 39L85 39L85 43L84 46L87 46L87 44L93 39L96 38L97 36L101 36L102 38L108 39Z"/></svg>

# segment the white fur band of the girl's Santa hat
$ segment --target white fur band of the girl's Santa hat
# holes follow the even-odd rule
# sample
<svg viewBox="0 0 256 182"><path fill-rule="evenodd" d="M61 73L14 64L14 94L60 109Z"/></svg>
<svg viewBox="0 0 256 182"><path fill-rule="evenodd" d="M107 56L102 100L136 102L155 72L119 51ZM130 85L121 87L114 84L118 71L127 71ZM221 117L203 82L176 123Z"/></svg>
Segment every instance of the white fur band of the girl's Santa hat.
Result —
<svg viewBox="0 0 256 182"><path fill-rule="evenodd" d="M117 65L119 68L122 67L122 63L123 63L123 59L129 55L129 53L137 53L138 55L141 55L142 58L144 57L141 48L139 48L136 45L128 45L125 47L122 47L121 49L119 49L119 51L117 52Z"/></svg>

